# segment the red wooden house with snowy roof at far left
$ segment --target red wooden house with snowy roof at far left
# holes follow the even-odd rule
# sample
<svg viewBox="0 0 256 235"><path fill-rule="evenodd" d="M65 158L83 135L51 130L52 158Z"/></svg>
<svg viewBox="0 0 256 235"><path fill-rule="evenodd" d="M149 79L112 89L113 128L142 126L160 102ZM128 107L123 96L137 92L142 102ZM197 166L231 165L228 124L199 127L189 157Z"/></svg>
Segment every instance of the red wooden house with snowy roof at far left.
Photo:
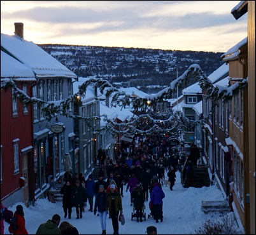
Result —
<svg viewBox="0 0 256 235"><path fill-rule="evenodd" d="M1 48L1 86L15 79L29 97L36 86L34 72ZM32 106L13 97L13 88L1 88L1 201L13 205L34 201Z"/></svg>

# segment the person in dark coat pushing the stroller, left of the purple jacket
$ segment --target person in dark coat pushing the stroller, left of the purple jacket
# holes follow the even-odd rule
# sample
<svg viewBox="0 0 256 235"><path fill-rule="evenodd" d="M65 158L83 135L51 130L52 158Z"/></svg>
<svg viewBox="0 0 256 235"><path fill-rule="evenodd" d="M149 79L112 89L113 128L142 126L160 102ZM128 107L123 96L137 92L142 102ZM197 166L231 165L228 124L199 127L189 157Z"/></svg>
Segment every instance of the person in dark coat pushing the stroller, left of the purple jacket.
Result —
<svg viewBox="0 0 256 235"><path fill-rule="evenodd" d="M142 211L144 206L144 194L143 194L143 185L141 182L138 182L136 187L133 188L133 198L134 198L134 208L136 210L137 222L142 222Z"/></svg>

